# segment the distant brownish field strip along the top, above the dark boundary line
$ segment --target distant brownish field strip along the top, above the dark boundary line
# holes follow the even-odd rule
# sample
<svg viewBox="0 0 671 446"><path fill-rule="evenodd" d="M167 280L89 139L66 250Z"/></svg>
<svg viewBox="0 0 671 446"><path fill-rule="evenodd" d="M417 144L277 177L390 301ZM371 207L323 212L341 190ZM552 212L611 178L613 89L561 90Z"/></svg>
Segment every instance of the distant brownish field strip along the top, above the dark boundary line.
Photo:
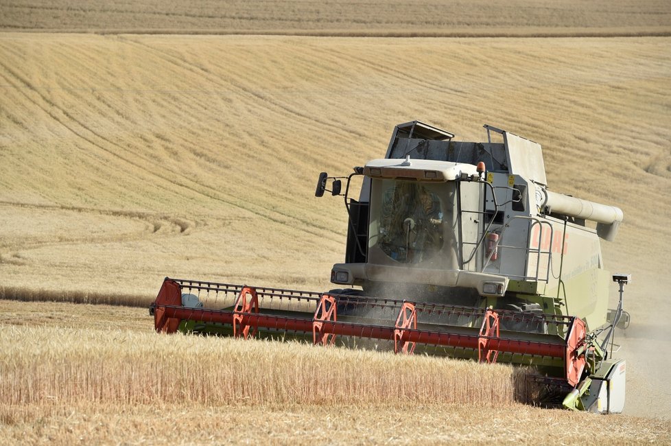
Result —
<svg viewBox="0 0 671 446"><path fill-rule="evenodd" d="M512 11L512 12L511 12ZM0 5L0 29L99 34L265 34L354 37L671 36L668 2L607 0L211 0L109 5L83 0L13 0Z"/></svg>

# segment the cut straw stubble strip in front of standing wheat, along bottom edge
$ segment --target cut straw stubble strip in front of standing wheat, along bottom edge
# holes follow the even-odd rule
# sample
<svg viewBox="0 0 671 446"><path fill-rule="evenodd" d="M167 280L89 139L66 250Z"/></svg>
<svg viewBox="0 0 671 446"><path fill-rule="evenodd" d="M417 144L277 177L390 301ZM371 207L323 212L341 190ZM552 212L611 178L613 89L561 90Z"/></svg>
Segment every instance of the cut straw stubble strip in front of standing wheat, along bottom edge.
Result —
<svg viewBox="0 0 671 446"><path fill-rule="evenodd" d="M514 415L513 415L514 414ZM12 443L668 444L668 422L515 406L2 406ZM38 421L36 421L38 420ZM132 432L129 435L129 432ZM589 434L586 434L589 432ZM130 437L130 438L129 438Z"/></svg>

